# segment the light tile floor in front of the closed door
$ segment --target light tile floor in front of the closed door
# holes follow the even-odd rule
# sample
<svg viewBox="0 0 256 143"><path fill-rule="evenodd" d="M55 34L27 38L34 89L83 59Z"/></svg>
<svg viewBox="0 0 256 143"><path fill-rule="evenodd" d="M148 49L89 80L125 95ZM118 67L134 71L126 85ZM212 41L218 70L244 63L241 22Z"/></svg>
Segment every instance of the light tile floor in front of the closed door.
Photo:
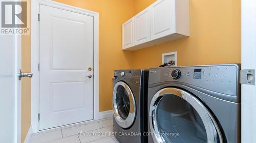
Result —
<svg viewBox="0 0 256 143"><path fill-rule="evenodd" d="M106 118L41 131L32 135L30 143L119 143L112 132L113 119Z"/></svg>

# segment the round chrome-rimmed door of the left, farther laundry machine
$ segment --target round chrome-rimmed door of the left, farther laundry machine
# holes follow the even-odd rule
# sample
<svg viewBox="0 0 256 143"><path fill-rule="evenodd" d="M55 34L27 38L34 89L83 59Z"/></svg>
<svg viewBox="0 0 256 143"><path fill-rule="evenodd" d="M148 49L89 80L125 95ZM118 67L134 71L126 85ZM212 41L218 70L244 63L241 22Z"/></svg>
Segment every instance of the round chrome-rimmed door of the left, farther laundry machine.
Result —
<svg viewBox="0 0 256 143"><path fill-rule="evenodd" d="M132 126L136 116L135 98L130 87L119 81L113 91L113 113L117 124L122 128Z"/></svg>

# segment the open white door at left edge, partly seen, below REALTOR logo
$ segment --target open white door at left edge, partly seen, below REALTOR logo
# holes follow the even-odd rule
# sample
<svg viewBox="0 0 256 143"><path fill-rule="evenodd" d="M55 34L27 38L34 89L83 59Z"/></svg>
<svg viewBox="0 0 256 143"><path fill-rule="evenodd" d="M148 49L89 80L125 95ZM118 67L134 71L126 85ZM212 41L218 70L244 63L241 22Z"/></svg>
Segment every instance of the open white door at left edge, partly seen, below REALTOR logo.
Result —
<svg viewBox="0 0 256 143"><path fill-rule="evenodd" d="M20 37L0 36L0 142L20 142Z"/></svg>

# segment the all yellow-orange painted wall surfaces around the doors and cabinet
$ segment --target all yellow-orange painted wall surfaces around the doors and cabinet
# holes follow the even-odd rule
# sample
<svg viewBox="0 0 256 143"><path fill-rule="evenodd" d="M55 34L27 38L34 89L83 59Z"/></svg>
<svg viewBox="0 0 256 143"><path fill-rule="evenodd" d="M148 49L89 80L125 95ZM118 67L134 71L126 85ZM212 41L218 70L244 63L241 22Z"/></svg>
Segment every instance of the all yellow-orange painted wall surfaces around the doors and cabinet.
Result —
<svg viewBox="0 0 256 143"><path fill-rule="evenodd" d="M155 0L56 0L99 13L99 110L112 108L114 69L157 67L177 51L178 66L241 63L241 0L190 0L190 37L138 51L122 51L121 24ZM30 37L22 39L23 71L30 71ZM30 80L23 79L22 139L30 127Z"/></svg>

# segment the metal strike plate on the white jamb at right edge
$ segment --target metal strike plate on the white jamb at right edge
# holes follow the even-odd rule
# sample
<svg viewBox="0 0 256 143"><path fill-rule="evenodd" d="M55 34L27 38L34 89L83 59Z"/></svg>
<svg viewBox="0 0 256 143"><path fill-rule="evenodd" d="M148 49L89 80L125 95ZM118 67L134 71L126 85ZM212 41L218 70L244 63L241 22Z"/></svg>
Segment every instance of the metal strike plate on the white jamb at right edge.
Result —
<svg viewBox="0 0 256 143"><path fill-rule="evenodd" d="M241 84L255 84L255 70L245 69L240 70L240 83Z"/></svg>

